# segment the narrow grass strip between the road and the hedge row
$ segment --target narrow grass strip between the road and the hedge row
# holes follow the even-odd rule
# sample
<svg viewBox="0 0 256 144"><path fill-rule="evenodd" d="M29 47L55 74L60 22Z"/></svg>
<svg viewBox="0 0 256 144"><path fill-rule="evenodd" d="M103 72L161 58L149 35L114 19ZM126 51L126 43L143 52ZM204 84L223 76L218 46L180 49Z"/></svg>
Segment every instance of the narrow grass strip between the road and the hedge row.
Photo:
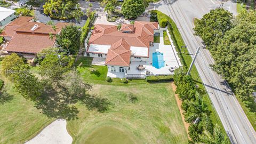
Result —
<svg viewBox="0 0 256 144"><path fill-rule="evenodd" d="M188 68L190 66L191 61L192 61L192 58L189 55L189 52L188 52L187 49L185 51L182 50L182 52L181 52L181 46L185 46L186 44L183 41L183 39L181 37L181 34L180 34L175 22L171 18L169 18L167 15L165 15L164 13L159 12L159 11L155 11L155 12L159 13L158 15L161 15L161 17L166 18L167 20L169 20L169 22L170 22L169 31L170 31L171 37L173 38L172 41L174 42L175 49L178 52L178 55L179 55L179 58L181 59L182 65L185 66L186 68ZM201 78L199 77L199 74L198 74L198 71L197 71L195 65L192 67L192 69L190 71L190 75L194 79L194 81L196 82L196 85L198 85L199 91L201 91L203 94L207 95L207 93L205 91L205 87L202 83ZM208 109L210 111L212 111L211 119L212 119L213 124L218 124L221 127L222 132L226 133L217 112L215 111L215 109L212 106L209 95L207 95L207 97L205 97L205 98L206 98L206 101L207 101Z"/></svg>

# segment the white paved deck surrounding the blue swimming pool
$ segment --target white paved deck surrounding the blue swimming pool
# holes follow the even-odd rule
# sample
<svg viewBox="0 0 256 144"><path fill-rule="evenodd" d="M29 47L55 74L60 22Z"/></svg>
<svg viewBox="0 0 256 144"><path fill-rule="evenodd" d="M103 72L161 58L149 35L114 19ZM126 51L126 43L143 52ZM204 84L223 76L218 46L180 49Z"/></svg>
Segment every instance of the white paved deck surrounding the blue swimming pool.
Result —
<svg viewBox="0 0 256 144"><path fill-rule="evenodd" d="M168 32L167 32L168 33ZM169 33L168 33L169 34ZM169 35L169 39L170 39ZM172 40L171 45L165 45L164 44L164 36L163 36L163 31L160 32L160 43L154 43L154 46L149 47L149 55L150 57L147 59L145 62L140 62L140 61L131 61L130 64L130 70L127 71L127 74L131 75L146 75L146 71L149 70L151 75L170 75L173 74L169 70L170 67L180 67L180 59L178 57L177 52L175 51L174 45ZM155 68L152 66L152 55L154 52L161 52L164 55L164 61L165 61L165 66L162 68ZM145 66L144 70L137 70L138 65L143 65Z"/></svg>

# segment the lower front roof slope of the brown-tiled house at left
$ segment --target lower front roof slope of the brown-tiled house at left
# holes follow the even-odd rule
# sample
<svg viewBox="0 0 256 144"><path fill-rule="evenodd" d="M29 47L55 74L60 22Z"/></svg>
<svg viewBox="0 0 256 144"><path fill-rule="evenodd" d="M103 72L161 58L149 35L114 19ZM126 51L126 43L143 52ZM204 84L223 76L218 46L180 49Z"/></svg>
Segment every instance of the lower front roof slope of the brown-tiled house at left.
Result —
<svg viewBox="0 0 256 144"><path fill-rule="evenodd" d="M55 40L45 34L16 33L5 50L7 52L38 53L46 47L54 46Z"/></svg>

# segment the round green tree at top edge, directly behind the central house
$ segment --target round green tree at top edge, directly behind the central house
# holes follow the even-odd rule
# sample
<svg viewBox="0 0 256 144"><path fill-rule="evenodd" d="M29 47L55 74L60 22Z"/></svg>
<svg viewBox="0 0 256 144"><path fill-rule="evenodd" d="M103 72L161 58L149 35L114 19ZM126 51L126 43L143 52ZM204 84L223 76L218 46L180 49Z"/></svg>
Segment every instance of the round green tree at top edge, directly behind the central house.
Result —
<svg viewBox="0 0 256 144"><path fill-rule="evenodd" d="M125 0L122 4L122 13L127 19L135 19L146 9L143 0Z"/></svg>

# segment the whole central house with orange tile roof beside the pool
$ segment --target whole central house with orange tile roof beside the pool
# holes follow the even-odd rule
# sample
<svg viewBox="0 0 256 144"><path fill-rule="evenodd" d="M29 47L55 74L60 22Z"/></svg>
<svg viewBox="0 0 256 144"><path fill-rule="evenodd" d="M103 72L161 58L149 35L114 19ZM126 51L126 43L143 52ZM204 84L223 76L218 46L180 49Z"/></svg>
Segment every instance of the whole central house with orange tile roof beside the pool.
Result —
<svg viewBox="0 0 256 144"><path fill-rule="evenodd" d="M135 21L134 25L95 25L87 46L87 56L106 58L108 71L126 73L131 61L147 61L154 45L157 22Z"/></svg>

